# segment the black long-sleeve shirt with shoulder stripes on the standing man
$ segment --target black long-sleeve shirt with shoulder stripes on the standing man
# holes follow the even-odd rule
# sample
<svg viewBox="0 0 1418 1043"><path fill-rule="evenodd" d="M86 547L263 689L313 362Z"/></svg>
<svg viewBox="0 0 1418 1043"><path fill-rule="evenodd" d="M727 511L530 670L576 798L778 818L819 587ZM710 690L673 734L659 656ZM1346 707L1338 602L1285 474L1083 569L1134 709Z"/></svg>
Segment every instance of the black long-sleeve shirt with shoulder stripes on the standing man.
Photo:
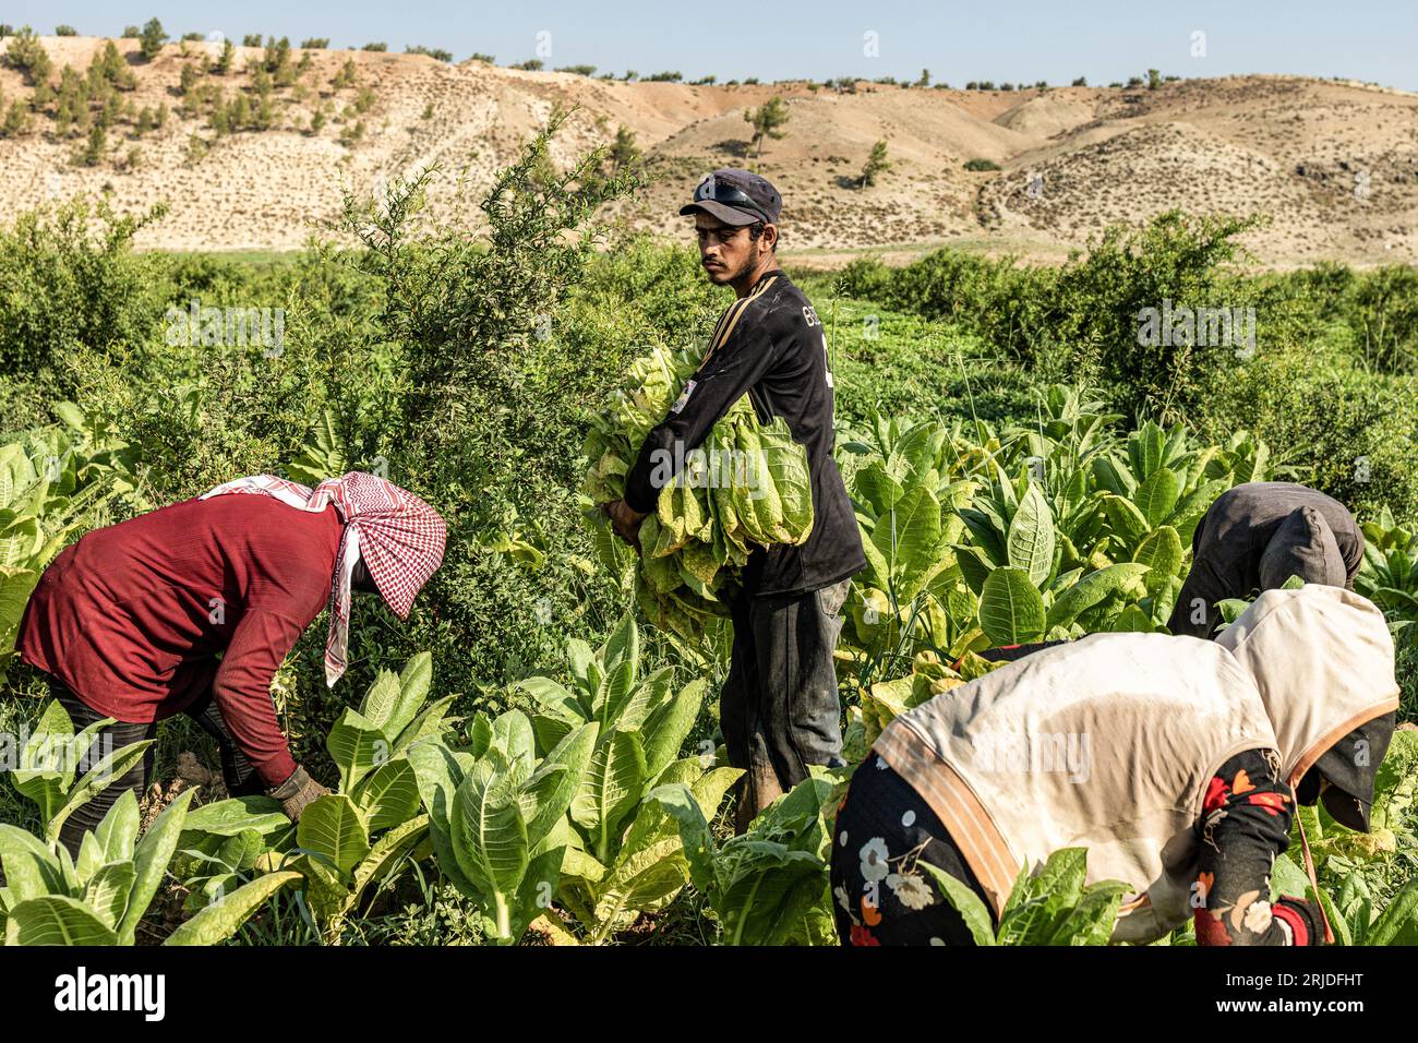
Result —
<svg viewBox="0 0 1418 1043"><path fill-rule="evenodd" d="M807 450L813 475L813 532L801 546L754 548L743 572L754 597L798 595L837 583L866 565L856 517L832 460L832 375L827 338L813 305L783 274L764 272L719 318L709 352L685 393L645 436L625 478L625 502L655 509L655 461L683 460L740 397L749 394L761 423L781 416ZM675 453L676 443L679 453ZM664 454L664 456L662 456Z"/></svg>

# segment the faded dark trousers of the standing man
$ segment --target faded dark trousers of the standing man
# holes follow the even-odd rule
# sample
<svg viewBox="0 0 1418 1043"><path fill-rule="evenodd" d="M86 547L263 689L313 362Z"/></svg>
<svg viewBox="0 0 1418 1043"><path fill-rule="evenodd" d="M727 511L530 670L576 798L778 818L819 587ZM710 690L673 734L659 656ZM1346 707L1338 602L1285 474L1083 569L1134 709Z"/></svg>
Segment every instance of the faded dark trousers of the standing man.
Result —
<svg viewBox="0 0 1418 1043"><path fill-rule="evenodd" d="M832 650L851 580L787 597L730 596L733 654L719 697L729 762L743 768L737 827L807 778L842 766L842 707Z"/></svg>

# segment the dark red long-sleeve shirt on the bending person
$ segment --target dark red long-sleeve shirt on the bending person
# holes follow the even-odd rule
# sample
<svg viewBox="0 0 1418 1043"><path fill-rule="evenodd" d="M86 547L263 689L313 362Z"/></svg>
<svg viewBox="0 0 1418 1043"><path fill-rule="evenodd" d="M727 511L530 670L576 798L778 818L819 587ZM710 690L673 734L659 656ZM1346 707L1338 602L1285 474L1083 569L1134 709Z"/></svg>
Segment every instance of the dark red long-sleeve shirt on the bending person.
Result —
<svg viewBox="0 0 1418 1043"><path fill-rule="evenodd" d="M20 657L99 712L160 721L211 691L261 780L295 761L271 680L329 600L343 522L262 495L187 500L89 532L26 606ZM221 653L221 658L217 658Z"/></svg>

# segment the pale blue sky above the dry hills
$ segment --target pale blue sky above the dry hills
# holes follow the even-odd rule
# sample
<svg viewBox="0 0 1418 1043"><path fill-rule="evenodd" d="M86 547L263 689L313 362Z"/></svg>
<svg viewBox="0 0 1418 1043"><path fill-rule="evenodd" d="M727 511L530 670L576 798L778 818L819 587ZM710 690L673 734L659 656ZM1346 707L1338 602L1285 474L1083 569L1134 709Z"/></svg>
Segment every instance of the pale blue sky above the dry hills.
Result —
<svg viewBox="0 0 1418 1043"><path fill-rule="evenodd" d="M920 3L814 0L798 3L451 3L447 0L7 0L0 21L52 33L68 23L85 34L118 35L125 24L162 18L173 35L220 30L329 37L332 47L386 41L474 51L499 64L537 57L547 67L597 65L641 74L676 70L720 81L838 75L933 79L1046 79L1086 75L1106 84L1149 67L1181 77L1293 72L1353 77L1418 91L1418 3L1414 0L1229 0L1229 3L1110 3L1103 0L983 0ZM1194 57L1193 33L1205 34ZM876 33L876 57L864 34Z"/></svg>

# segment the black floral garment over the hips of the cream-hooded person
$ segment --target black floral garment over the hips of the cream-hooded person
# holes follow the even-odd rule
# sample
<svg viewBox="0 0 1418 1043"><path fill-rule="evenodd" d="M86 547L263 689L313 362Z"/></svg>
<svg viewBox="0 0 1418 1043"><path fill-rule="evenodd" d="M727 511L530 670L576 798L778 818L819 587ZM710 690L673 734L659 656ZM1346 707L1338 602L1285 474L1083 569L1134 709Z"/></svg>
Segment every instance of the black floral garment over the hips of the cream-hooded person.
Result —
<svg viewBox="0 0 1418 1043"><path fill-rule="evenodd" d="M852 775L832 826L832 915L842 945L974 945L920 863L984 888L930 805L875 752ZM994 914L991 911L991 920Z"/></svg>

